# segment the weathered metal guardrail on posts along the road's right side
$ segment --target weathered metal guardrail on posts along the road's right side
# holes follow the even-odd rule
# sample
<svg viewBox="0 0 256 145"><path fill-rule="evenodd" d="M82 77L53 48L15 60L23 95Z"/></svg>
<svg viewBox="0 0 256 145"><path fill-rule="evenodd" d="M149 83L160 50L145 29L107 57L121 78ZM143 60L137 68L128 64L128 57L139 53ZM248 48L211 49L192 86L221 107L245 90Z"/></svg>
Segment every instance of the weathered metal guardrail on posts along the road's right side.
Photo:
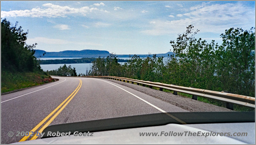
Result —
<svg viewBox="0 0 256 145"><path fill-rule="evenodd" d="M197 96L211 98L211 99L226 102L226 107L231 110L233 110L233 104L255 108L255 98L249 97L249 96L232 94L228 91L222 91L222 92L210 91L210 90L204 90L204 89L197 89L193 87L182 87L182 86L177 86L175 84L156 83L156 82L135 80L135 79L125 78L125 77L116 77L116 76L77 76L77 77L114 79L114 80L119 80L123 82L127 81L128 83L129 82L137 83L138 85L142 84L143 86L148 85L149 88L152 88L154 86L159 88L160 91L163 91L163 89L171 90L173 91L174 95L177 95L177 92L190 94L192 95L192 99L195 99L195 100L197 100Z"/></svg>

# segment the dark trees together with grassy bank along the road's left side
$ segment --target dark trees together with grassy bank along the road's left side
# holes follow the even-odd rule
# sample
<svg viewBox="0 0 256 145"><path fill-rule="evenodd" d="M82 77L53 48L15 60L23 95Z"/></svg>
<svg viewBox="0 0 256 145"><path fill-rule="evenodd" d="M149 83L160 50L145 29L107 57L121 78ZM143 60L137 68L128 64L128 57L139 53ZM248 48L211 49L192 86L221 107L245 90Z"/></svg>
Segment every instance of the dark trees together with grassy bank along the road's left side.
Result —
<svg viewBox="0 0 256 145"><path fill-rule="evenodd" d="M43 72L34 56L33 45L27 45L27 34L18 22L14 26L1 22L1 93L53 81Z"/></svg>

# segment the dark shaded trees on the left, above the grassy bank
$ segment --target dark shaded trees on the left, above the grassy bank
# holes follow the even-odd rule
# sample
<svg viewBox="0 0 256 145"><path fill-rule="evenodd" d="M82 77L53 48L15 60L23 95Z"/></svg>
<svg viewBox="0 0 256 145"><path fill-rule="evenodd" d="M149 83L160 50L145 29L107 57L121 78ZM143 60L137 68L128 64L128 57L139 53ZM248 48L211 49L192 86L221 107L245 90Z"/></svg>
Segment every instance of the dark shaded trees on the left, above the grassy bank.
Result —
<svg viewBox="0 0 256 145"><path fill-rule="evenodd" d="M14 26L6 19L1 22L1 69L11 72L42 71L34 56L33 45L27 45L27 34L18 22Z"/></svg>

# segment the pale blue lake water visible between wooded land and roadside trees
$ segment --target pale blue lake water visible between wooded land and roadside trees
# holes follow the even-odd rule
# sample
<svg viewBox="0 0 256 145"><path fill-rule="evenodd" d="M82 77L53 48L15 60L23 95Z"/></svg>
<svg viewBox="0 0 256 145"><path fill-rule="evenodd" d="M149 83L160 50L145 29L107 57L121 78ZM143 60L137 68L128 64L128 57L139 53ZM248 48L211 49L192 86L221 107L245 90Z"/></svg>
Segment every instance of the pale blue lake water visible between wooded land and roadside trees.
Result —
<svg viewBox="0 0 256 145"><path fill-rule="evenodd" d="M44 58L44 60L48 60L48 59L72 59L72 58ZM129 57L120 57L120 59L130 59ZM164 57L164 62L166 62L168 59L168 57ZM124 64L125 62L118 62L120 64ZM44 71L47 70L55 70L58 69L60 67L62 67L64 64L41 64L41 68ZM77 75L82 73L85 74L86 73L86 69L88 69L88 71L91 69L91 65L92 63L71 63L71 64L66 64L67 66L71 65L71 67L75 67L76 68L76 73Z"/></svg>

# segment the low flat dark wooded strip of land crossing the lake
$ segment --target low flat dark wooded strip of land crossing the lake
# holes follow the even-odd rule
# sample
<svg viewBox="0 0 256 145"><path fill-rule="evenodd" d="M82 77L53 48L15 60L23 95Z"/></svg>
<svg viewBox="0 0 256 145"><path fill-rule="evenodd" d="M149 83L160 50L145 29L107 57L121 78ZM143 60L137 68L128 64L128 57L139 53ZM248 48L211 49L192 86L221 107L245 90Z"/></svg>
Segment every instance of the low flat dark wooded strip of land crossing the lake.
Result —
<svg viewBox="0 0 256 145"><path fill-rule="evenodd" d="M106 59L106 58L104 58ZM96 58L76 58L76 59L54 59L39 60L39 64L71 64L71 63L92 63ZM106 60L105 60L106 61ZM118 59L118 62L127 62L124 59Z"/></svg>

